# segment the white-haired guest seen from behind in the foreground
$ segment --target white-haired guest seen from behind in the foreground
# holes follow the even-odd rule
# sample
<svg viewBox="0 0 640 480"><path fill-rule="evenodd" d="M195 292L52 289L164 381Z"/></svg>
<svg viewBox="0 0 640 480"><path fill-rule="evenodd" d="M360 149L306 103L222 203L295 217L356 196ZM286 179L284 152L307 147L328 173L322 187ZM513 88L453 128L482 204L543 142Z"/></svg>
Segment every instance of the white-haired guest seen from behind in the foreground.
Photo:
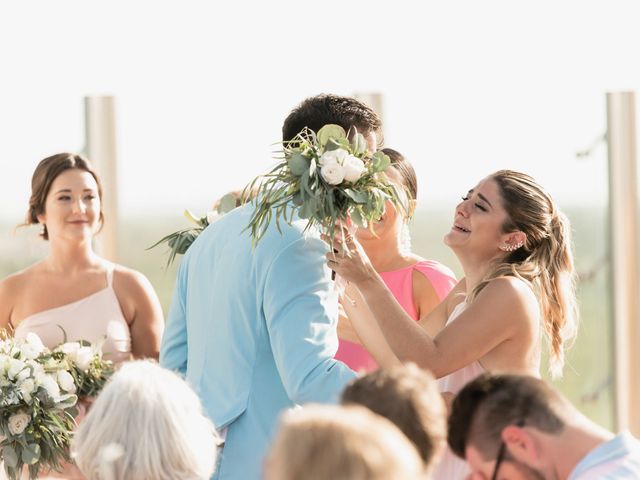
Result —
<svg viewBox="0 0 640 480"><path fill-rule="evenodd" d="M75 435L88 480L208 479L220 443L193 390L151 361L125 363Z"/></svg>

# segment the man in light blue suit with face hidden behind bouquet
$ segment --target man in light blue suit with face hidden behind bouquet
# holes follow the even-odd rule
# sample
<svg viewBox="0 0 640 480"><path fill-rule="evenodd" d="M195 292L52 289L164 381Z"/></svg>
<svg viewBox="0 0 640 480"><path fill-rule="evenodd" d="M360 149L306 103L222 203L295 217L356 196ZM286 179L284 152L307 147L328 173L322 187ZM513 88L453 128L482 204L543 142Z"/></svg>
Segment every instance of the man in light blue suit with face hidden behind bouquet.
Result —
<svg viewBox="0 0 640 480"><path fill-rule="evenodd" d="M359 101L311 97L283 125L356 127L375 151L380 119ZM247 204L207 227L185 255L162 339L160 363L186 376L225 436L214 478L258 479L282 410L337 402L355 373L333 356L337 296L327 245L306 222L270 225L252 250Z"/></svg>

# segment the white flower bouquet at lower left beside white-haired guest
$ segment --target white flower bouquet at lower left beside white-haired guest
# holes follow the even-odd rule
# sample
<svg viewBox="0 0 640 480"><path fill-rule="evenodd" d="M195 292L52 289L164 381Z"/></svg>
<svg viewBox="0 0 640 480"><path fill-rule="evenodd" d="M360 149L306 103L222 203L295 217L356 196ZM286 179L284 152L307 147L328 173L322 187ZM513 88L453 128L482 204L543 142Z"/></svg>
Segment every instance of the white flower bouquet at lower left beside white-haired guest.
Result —
<svg viewBox="0 0 640 480"><path fill-rule="evenodd" d="M70 461L76 384L66 361L50 356L37 335L0 338L0 460L11 480Z"/></svg>

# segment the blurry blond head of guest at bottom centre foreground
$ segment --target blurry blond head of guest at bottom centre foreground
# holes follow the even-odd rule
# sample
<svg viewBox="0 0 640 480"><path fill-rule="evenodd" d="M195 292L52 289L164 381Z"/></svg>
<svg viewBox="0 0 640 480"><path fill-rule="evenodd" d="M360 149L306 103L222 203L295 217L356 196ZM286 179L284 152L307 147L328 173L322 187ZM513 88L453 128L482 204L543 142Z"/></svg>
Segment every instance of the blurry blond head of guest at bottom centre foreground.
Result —
<svg viewBox="0 0 640 480"><path fill-rule="evenodd" d="M266 459L265 480L424 479L416 449L387 419L359 406L287 412Z"/></svg>

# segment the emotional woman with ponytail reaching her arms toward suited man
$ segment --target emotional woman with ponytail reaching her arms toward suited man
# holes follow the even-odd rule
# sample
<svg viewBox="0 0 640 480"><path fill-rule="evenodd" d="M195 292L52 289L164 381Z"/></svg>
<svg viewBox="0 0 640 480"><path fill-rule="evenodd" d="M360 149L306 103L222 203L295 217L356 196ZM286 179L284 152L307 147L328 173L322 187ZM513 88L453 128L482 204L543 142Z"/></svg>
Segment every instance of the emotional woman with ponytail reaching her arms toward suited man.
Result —
<svg viewBox="0 0 640 480"><path fill-rule="evenodd" d="M560 375L577 309L569 223L550 195L528 175L496 172L463 197L445 243L465 278L418 323L356 239L347 237L349 255L327 255L329 267L351 282L356 306L366 305L350 318L373 356L383 366L399 359L428 368L442 392L455 394L486 370L539 376L546 335L551 373ZM445 327L432 336L422 328L430 322ZM467 474L447 453L434 478Z"/></svg>

